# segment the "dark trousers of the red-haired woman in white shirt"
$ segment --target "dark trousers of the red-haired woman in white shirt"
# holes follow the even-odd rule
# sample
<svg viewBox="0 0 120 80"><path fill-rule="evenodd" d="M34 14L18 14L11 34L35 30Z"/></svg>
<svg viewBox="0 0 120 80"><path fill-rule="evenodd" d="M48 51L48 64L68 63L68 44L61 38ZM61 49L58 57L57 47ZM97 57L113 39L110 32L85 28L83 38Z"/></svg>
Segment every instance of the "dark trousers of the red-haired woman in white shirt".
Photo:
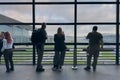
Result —
<svg viewBox="0 0 120 80"><path fill-rule="evenodd" d="M7 70L9 70L10 68L14 69L12 56L13 56L12 49L6 49L4 51L4 60L5 60L5 65Z"/></svg>

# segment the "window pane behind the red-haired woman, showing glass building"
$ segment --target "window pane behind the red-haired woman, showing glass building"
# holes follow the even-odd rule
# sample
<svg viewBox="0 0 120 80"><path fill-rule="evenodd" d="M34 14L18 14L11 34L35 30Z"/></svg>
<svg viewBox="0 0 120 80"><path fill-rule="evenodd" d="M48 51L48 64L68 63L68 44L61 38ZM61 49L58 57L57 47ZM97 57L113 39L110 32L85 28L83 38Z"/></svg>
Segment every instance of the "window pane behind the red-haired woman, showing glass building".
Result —
<svg viewBox="0 0 120 80"><path fill-rule="evenodd" d="M9 31L14 39L14 43L28 43L32 26L30 25L0 25L0 32Z"/></svg>

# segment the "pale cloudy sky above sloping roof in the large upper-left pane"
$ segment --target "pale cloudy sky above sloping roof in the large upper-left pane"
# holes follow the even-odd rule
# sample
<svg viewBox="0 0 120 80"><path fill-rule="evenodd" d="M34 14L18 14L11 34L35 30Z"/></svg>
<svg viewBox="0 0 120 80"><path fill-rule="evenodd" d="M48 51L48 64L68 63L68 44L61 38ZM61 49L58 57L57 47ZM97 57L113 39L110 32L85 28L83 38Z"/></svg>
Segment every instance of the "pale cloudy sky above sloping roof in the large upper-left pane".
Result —
<svg viewBox="0 0 120 80"><path fill-rule="evenodd" d="M0 6L0 14L19 20L21 22L32 22L31 6L3 5Z"/></svg>

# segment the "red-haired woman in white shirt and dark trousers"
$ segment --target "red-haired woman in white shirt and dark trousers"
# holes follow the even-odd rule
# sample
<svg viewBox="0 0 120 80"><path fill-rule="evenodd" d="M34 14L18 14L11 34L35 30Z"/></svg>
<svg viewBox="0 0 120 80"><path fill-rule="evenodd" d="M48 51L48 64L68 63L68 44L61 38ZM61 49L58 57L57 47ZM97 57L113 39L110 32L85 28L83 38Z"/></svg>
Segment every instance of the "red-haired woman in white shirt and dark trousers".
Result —
<svg viewBox="0 0 120 80"><path fill-rule="evenodd" d="M3 36L3 47L1 51L4 54L5 65L6 65L6 72L14 71L14 64L13 64L13 38L10 32L2 33Z"/></svg>

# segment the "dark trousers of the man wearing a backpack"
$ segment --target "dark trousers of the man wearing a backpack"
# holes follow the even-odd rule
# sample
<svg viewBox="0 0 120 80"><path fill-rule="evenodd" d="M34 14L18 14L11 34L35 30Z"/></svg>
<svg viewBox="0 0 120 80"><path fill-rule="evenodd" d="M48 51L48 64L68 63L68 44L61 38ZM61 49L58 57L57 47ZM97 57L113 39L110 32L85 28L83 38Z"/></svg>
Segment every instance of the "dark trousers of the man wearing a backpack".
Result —
<svg viewBox="0 0 120 80"><path fill-rule="evenodd" d="M44 51L44 44L38 44L37 46L37 69L42 68L42 58L43 58L43 51Z"/></svg>

